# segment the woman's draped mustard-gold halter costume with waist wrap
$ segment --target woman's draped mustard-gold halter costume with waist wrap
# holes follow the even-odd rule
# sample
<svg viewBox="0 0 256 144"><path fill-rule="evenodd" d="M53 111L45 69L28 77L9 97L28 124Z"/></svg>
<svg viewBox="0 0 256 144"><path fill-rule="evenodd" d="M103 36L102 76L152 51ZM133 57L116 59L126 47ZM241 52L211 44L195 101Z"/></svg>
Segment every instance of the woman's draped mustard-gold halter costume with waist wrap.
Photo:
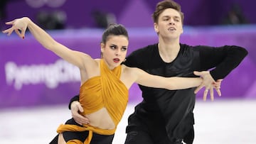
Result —
<svg viewBox="0 0 256 144"><path fill-rule="evenodd" d="M61 124L57 132L65 131L89 131L85 142L89 144L92 139L92 132L100 135L112 135L117 129L117 124L121 121L128 102L129 91L124 83L119 79L122 66L110 70L104 60L100 60L100 76L88 79L80 87L79 101L84 109L83 115L90 114L105 107L114 121L115 128L112 130L95 128L90 125L76 126L71 124ZM67 143L81 143L80 140L69 140Z"/></svg>

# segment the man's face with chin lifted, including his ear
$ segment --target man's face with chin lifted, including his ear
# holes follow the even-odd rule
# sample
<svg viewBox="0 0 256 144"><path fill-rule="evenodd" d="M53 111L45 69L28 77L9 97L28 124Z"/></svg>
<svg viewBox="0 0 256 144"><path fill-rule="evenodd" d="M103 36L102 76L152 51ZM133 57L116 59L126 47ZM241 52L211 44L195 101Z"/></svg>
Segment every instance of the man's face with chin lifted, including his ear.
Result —
<svg viewBox="0 0 256 144"><path fill-rule="evenodd" d="M175 9L164 10L159 15L158 23L154 23L154 29L164 38L179 38L183 33L180 13Z"/></svg>

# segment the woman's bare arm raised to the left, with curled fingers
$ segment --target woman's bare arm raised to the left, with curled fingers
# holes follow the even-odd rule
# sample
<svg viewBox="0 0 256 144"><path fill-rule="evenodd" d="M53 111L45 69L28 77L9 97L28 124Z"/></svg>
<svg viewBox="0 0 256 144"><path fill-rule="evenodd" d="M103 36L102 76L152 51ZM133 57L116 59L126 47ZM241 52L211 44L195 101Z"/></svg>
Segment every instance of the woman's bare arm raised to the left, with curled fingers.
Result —
<svg viewBox="0 0 256 144"><path fill-rule="evenodd" d="M36 23L33 23L33 21L28 17L17 18L14 21L7 22L6 24L11 25L11 28L6 29L3 33L11 35L11 33L15 31L20 38L25 38L26 29L28 28L34 38L36 38L44 48L53 51L59 57L62 57L64 60L67 60L80 68L85 67L85 62L90 62L90 60L92 60L90 55L70 50L65 47L65 45L55 41L48 33L46 33L46 31L37 26Z"/></svg>

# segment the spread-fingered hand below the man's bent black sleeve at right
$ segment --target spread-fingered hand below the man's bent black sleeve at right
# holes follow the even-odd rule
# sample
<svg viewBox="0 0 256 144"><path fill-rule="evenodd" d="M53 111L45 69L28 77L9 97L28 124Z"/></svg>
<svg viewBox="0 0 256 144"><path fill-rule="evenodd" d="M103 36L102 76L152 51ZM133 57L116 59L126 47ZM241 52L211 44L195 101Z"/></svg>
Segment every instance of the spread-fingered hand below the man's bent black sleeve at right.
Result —
<svg viewBox="0 0 256 144"><path fill-rule="evenodd" d="M210 99L212 101L214 100L213 89L215 89L218 95L221 96L220 84L223 79L218 79L215 82L213 77L210 75L209 71L194 72L194 74L203 78L202 84L198 86L195 90L195 94L196 94L199 92L200 89L202 89L203 87L206 87L205 91L203 92L203 101L206 101L209 89L210 89Z"/></svg>

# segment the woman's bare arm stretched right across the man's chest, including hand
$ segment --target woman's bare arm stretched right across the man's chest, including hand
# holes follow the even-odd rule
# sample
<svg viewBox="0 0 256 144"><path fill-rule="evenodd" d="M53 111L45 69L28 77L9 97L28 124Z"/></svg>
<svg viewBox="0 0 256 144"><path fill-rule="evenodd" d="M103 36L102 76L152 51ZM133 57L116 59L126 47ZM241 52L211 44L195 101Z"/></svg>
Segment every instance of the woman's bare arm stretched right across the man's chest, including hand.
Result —
<svg viewBox="0 0 256 144"><path fill-rule="evenodd" d="M210 99L213 100L213 89L216 90L218 95L221 95L220 92L220 84L221 80L215 82L214 79L210 79L209 75L210 73L208 71L203 72L194 72L197 76L200 77L160 77L157 75L148 74L147 72L144 72L143 70L140 70L135 67L129 67L129 69L132 70L132 73L134 75L135 82L137 84L144 85L146 87L156 87L156 88L163 88L163 89L188 89L191 87L198 87L201 86L202 83L205 83L204 81L208 81L207 83L210 83L210 85L207 85L207 88L205 89L203 93L203 100L206 100L206 96L208 94L208 90L210 89ZM198 91L197 91L198 92ZM195 92L196 93L196 92Z"/></svg>

